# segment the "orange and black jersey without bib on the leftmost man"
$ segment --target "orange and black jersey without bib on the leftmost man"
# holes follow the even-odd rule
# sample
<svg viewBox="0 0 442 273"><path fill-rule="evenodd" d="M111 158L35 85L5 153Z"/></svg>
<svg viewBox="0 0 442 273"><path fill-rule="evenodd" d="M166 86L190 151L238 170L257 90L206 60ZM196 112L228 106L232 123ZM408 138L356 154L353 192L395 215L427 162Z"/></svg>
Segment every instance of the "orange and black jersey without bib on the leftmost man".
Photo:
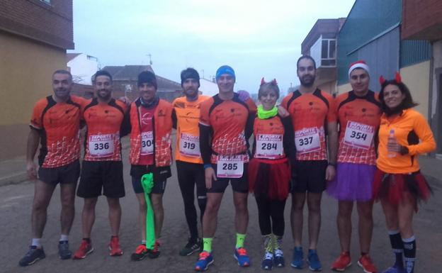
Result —
<svg viewBox="0 0 442 273"><path fill-rule="evenodd" d="M79 128L81 106L86 99L70 96L66 102L56 102L52 96L40 99L34 106L30 127L40 133L41 167L55 168L80 157Z"/></svg>

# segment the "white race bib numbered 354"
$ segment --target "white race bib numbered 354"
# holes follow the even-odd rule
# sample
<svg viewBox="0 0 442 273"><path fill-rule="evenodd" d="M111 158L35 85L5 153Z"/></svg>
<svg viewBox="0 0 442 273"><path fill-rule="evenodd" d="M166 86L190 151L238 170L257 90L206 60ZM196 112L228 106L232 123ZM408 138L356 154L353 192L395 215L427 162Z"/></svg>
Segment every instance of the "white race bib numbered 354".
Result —
<svg viewBox="0 0 442 273"><path fill-rule="evenodd" d="M368 150L371 147L374 135L374 126L348 121L346 134L344 136L344 143L353 147L360 147Z"/></svg>

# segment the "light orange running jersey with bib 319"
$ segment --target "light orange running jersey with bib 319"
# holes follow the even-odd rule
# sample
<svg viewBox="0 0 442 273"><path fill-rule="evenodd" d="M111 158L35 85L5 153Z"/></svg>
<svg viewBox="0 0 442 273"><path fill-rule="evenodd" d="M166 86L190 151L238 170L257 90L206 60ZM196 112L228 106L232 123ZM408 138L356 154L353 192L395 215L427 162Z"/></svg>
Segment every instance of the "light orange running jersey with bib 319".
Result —
<svg viewBox="0 0 442 273"><path fill-rule="evenodd" d="M198 96L196 101L188 101L186 96L176 98L172 103L176 115L175 160L203 164L200 153L200 106L210 96Z"/></svg>

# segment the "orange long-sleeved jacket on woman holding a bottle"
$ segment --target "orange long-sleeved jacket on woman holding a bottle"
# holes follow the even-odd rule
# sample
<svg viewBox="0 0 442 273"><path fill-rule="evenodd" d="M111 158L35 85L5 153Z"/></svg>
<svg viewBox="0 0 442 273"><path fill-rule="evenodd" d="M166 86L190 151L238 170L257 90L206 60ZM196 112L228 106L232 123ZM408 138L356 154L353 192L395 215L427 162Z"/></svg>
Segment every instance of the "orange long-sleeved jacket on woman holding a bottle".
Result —
<svg viewBox="0 0 442 273"><path fill-rule="evenodd" d="M390 130L395 130L397 143L408 148L407 155L396 153L388 157L387 141ZM399 116L387 117L382 114L379 128L377 167L390 174L404 174L419 171L417 155L436 149L436 141L424 116L412 108L402 111Z"/></svg>

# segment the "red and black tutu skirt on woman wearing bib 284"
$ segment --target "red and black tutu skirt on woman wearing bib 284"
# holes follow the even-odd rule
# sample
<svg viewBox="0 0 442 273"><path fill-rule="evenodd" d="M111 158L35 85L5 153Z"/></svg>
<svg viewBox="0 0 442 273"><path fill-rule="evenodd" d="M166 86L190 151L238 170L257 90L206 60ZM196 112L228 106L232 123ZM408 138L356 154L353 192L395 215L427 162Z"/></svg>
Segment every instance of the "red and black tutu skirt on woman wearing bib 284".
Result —
<svg viewBox="0 0 442 273"><path fill-rule="evenodd" d="M253 158L249 162L249 191L255 196L266 196L271 200L287 199L290 178L288 158L279 160Z"/></svg>

